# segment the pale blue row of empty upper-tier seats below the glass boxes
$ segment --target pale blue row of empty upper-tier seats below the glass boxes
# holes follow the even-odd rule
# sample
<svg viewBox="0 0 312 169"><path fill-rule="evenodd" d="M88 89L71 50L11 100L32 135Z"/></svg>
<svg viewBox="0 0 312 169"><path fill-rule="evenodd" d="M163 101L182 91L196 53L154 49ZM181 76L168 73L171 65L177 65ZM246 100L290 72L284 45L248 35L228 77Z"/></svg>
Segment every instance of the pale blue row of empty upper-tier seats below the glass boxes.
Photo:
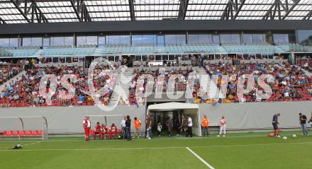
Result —
<svg viewBox="0 0 312 169"><path fill-rule="evenodd" d="M282 53L282 52L306 52L310 48L303 47L299 44L280 44L280 45L239 45L239 44L223 44L219 45L167 45L165 47L157 47L153 45L107 45L99 48L99 52L96 54L151 54L151 53ZM43 49L43 56L51 55L81 55L81 54L94 54L96 46L84 45L75 47L62 47L53 46ZM0 49L0 57L10 56L32 56L38 48L26 48L26 49Z"/></svg>

